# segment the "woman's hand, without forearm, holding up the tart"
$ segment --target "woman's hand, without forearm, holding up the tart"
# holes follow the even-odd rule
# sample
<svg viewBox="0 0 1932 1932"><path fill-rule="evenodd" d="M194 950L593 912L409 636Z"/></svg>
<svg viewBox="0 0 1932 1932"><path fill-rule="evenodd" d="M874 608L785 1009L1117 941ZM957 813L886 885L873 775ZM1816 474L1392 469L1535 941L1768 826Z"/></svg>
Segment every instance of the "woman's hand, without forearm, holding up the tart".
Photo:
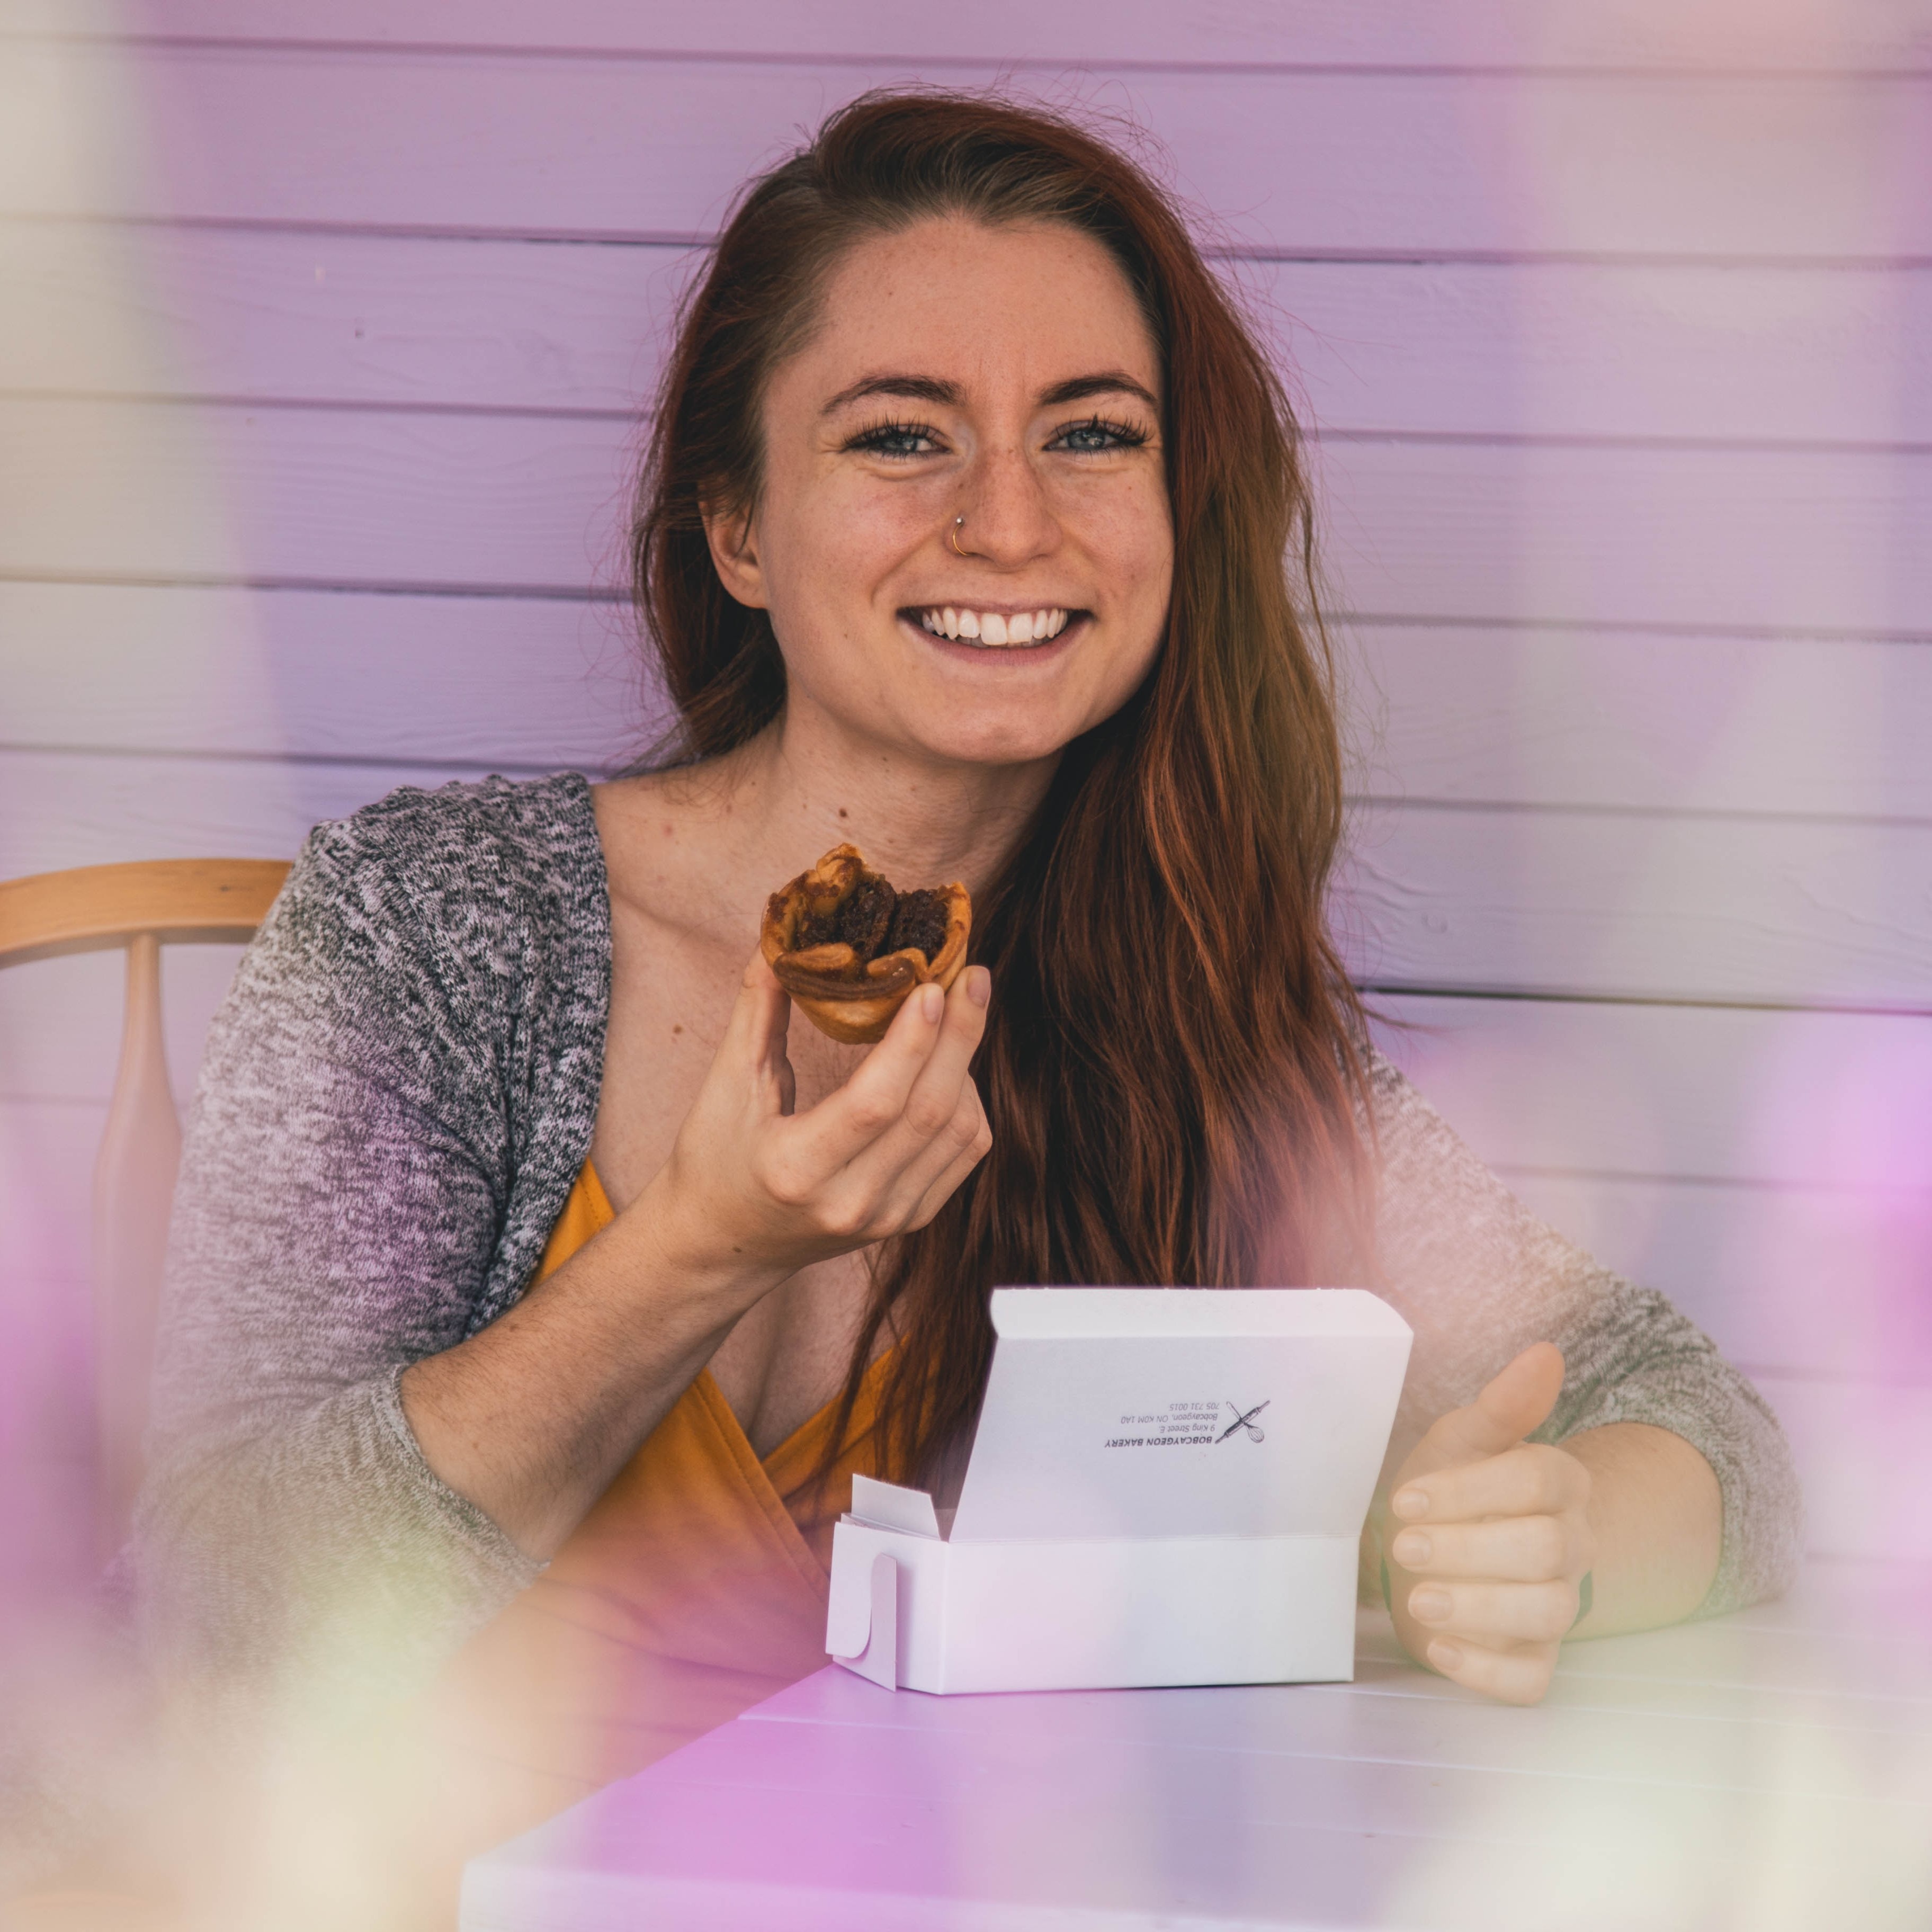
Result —
<svg viewBox="0 0 1932 1932"><path fill-rule="evenodd" d="M983 966L916 987L844 1086L794 1113L792 1003L753 956L641 1217L686 1265L763 1285L923 1227L993 1146L968 1072L991 987Z"/></svg>

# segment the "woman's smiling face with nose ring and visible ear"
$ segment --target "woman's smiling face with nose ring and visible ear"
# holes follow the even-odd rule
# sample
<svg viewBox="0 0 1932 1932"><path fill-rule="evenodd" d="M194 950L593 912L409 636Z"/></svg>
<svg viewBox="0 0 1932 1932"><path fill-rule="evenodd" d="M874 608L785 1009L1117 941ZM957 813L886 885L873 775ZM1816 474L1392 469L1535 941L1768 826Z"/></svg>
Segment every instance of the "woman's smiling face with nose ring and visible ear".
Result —
<svg viewBox="0 0 1932 1932"><path fill-rule="evenodd" d="M726 587L771 612L794 713L925 759L1059 752L1167 620L1140 305L1074 228L962 218L858 243L823 299L767 388L761 500L711 529Z"/></svg>

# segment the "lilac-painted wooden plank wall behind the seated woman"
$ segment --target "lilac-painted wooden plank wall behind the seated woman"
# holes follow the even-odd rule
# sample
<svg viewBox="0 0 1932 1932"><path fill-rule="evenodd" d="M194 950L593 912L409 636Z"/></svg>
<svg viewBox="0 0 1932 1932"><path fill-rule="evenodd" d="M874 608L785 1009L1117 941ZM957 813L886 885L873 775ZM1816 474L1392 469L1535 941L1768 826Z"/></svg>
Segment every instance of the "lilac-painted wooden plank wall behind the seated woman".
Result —
<svg viewBox="0 0 1932 1932"><path fill-rule="evenodd" d="M1816 1548L1932 1551L1918 0L4 0L0 875L622 761L694 249L840 99L999 75L1161 143L1306 402L1393 1051L1758 1372ZM170 960L184 1086L232 960ZM112 1003L0 981L62 1374Z"/></svg>

